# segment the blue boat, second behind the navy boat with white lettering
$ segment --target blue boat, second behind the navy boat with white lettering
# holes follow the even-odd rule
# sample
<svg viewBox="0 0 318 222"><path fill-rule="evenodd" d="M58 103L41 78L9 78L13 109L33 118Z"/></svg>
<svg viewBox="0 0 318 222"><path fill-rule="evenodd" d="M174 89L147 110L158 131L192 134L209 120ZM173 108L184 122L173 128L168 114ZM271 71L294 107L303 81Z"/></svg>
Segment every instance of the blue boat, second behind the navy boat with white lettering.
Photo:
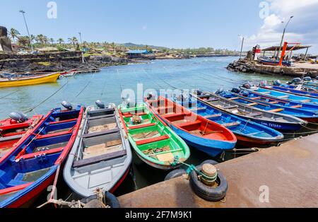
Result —
<svg viewBox="0 0 318 222"><path fill-rule="evenodd" d="M252 90L245 89L246 98L250 98L256 102L270 103L275 105L281 105L283 107L293 107L298 110L307 110L310 112L318 113L318 105L311 103L300 103L292 100L278 99L269 95L256 93Z"/></svg>

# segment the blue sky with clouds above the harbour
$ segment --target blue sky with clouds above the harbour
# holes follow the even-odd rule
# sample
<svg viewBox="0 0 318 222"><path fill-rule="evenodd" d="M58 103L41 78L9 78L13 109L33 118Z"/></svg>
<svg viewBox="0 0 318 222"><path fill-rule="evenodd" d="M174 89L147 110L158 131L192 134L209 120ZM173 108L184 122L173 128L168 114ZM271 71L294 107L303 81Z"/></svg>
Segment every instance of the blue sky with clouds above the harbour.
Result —
<svg viewBox="0 0 318 222"><path fill-rule="evenodd" d="M262 48L279 45L286 22L295 16L285 40L312 45L310 52L318 53L318 0L6 1L0 25L27 35L20 9L26 12L31 34L55 40L79 38L81 32L88 42L236 50L242 36L245 50L257 44Z"/></svg>

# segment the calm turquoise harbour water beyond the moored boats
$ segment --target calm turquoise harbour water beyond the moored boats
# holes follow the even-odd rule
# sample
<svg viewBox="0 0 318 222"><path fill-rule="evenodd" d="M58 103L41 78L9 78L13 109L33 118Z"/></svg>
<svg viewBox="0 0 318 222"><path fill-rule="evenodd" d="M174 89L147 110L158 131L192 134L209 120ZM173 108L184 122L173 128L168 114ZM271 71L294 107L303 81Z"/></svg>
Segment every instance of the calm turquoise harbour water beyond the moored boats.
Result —
<svg viewBox="0 0 318 222"><path fill-rule="evenodd" d="M217 90L231 89L245 81L275 80L273 76L259 74L240 74L230 72L225 67L237 57L198 58L182 60L155 60L146 64L112 66L97 74L79 74L63 78L57 83L36 86L0 89L0 119L8 117L13 111L26 112L31 107L52 98L36 107L28 115L45 114L61 101L92 105L95 100L105 103L121 103L121 91L130 88L136 92L137 84L143 90L192 89ZM281 79L287 81L288 79Z"/></svg>

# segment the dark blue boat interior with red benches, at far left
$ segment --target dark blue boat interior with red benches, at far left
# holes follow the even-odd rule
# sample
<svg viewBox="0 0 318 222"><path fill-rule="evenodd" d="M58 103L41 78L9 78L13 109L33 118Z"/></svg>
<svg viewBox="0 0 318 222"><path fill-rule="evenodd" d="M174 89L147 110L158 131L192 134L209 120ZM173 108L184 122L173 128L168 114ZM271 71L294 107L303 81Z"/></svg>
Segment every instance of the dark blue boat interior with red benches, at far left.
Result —
<svg viewBox="0 0 318 222"><path fill-rule="evenodd" d="M0 201L56 167L54 163L69 144L78 115L79 110L52 112L33 135L11 151L0 165Z"/></svg>

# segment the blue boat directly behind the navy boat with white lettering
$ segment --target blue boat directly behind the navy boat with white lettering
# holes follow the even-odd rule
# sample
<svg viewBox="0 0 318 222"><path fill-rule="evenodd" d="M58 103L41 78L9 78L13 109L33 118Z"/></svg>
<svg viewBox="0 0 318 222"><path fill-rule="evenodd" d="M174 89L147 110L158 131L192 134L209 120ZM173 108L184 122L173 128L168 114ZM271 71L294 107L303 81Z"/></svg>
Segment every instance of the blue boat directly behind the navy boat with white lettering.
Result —
<svg viewBox="0 0 318 222"><path fill-rule="evenodd" d="M226 98L236 103L247 105L249 107L254 107L269 112L271 112L271 110L276 110L277 113L298 117L299 119L305 120L306 122L318 122L318 114L316 112L300 110L296 108L296 106L284 107L282 105L276 105L275 103L266 103L264 101L248 98L248 95L248 92L245 94L244 91L240 94L231 93L229 91L220 93L220 96L223 96L223 98ZM305 125L305 123L303 125Z"/></svg>

